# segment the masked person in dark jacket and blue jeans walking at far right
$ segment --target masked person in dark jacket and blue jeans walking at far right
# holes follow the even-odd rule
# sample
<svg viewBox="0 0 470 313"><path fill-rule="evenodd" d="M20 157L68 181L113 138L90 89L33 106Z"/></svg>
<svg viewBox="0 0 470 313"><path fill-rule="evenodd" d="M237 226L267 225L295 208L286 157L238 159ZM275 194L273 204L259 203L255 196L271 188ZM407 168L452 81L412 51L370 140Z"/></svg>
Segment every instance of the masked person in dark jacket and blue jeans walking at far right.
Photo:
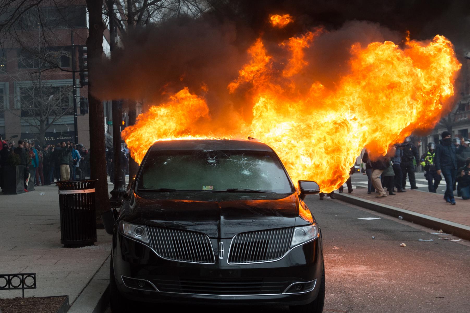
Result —
<svg viewBox="0 0 470 313"><path fill-rule="evenodd" d="M437 174L440 175L442 173L446 180L444 200L447 203L455 204L453 186L457 174L457 154L462 153L465 146L463 145L462 138L462 144L459 145L459 148L456 148L452 142L452 134L447 131L442 132L441 138L436 146L434 164Z"/></svg>

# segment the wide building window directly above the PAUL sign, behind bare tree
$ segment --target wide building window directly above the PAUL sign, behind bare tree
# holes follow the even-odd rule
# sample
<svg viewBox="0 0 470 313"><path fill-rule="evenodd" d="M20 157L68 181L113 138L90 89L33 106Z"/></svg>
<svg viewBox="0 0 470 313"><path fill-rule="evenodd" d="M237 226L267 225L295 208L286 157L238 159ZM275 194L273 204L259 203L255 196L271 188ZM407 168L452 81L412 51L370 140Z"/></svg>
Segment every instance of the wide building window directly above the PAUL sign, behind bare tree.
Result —
<svg viewBox="0 0 470 313"><path fill-rule="evenodd" d="M39 117L73 114L71 86L28 86L19 88L21 117Z"/></svg>

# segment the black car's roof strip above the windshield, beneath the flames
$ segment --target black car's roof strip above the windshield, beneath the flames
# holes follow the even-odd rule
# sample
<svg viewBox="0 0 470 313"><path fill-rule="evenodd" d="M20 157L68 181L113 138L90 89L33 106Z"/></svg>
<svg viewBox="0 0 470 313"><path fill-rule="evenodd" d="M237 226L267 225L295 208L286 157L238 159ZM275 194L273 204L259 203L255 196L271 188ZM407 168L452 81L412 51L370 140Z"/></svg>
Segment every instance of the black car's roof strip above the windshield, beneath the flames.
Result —
<svg viewBox="0 0 470 313"><path fill-rule="evenodd" d="M273 151L268 145L252 140L169 140L157 141L150 148L157 150L251 150Z"/></svg>

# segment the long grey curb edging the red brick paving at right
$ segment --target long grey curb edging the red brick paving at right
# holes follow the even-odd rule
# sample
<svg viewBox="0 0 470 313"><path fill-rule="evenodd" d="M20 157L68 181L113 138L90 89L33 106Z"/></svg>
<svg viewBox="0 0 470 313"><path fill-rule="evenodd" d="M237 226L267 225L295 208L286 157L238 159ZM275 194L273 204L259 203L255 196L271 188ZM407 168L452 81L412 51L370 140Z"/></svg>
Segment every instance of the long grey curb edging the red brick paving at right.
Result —
<svg viewBox="0 0 470 313"><path fill-rule="evenodd" d="M400 209L388 204L377 203L359 197L345 195L344 193L335 194L335 198L346 203L351 203L365 209L387 214L396 218L401 216L404 220L409 222L436 230L442 229L445 233L454 234L454 236L470 240L470 226L454 223L445 219L438 219L429 215L416 213L405 209Z"/></svg>

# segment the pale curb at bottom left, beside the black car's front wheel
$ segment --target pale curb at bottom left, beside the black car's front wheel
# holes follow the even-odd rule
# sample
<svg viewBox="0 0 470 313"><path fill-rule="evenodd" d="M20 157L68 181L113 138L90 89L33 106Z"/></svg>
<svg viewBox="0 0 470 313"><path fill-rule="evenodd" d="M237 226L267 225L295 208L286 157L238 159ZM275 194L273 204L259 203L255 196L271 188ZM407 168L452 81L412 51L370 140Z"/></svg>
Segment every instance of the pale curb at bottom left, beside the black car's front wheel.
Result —
<svg viewBox="0 0 470 313"><path fill-rule="evenodd" d="M72 303L68 313L102 313L110 302L110 256Z"/></svg>

